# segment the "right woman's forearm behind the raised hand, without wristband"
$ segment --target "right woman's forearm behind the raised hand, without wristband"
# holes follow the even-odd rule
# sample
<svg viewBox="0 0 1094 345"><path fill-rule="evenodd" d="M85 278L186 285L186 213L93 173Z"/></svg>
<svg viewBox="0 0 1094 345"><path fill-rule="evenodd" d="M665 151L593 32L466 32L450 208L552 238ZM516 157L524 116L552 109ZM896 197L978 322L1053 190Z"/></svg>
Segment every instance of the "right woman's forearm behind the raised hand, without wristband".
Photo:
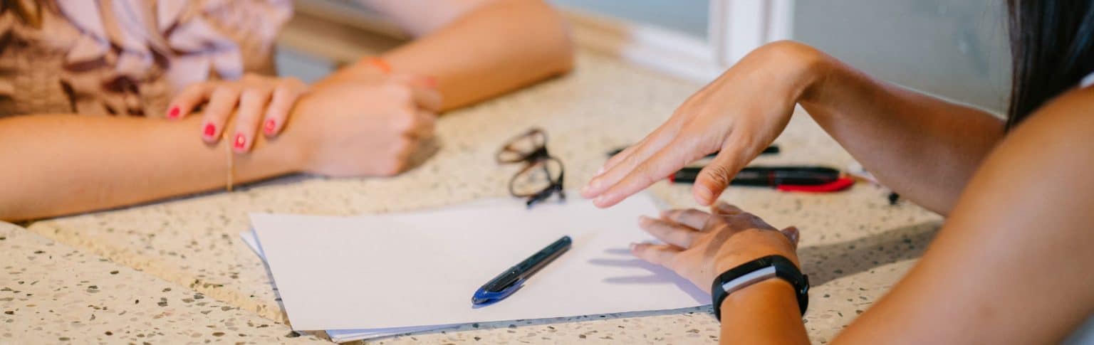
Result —
<svg viewBox="0 0 1094 345"><path fill-rule="evenodd" d="M798 49L811 50L807 47ZM819 51L800 104L883 183L946 214L1003 135L988 112L874 80Z"/></svg>

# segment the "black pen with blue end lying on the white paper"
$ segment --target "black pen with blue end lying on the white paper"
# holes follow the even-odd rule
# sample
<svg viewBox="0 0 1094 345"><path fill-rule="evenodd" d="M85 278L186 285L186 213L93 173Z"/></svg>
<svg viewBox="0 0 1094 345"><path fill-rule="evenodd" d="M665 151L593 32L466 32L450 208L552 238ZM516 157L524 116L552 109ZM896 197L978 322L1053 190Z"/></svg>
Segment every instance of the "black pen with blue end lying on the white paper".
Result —
<svg viewBox="0 0 1094 345"><path fill-rule="evenodd" d="M524 261L521 261L515 266L509 267L509 270L505 270L505 272L490 279L482 287L479 287L475 292L475 295L472 296L472 304L484 306L505 299L505 297L520 289L524 285L524 282L538 272L539 269L543 269L569 250L570 243L572 243L570 237L562 236L562 238L547 246L547 248L532 254L528 259L524 259Z"/></svg>

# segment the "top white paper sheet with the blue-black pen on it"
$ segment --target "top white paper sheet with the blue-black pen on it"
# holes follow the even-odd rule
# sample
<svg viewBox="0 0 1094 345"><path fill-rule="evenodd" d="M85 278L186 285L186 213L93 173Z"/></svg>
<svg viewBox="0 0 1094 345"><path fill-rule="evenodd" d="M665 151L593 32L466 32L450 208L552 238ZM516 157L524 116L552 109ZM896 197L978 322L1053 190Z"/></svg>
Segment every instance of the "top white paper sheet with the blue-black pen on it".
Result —
<svg viewBox="0 0 1094 345"><path fill-rule="evenodd" d="M686 279L630 255L651 240L651 199L453 207L386 216L252 214L295 330L376 330L666 310L709 304ZM513 296L473 308L472 294L563 235L569 252ZM379 331L379 330L377 330Z"/></svg>

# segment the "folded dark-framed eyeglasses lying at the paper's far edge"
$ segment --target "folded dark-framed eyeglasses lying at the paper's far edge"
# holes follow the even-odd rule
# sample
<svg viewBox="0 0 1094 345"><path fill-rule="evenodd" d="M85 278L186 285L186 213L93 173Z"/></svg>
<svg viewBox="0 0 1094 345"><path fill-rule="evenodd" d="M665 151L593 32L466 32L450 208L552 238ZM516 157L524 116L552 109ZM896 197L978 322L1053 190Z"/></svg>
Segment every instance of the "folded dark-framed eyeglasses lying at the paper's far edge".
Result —
<svg viewBox="0 0 1094 345"><path fill-rule="evenodd" d="M566 170L562 160L547 153L547 134L538 128L533 128L524 134L516 135L505 142L498 151L498 163L524 163L523 169L509 180L509 193L516 198L526 198L525 204L532 207L558 193L559 200L566 200L562 191L562 177Z"/></svg>

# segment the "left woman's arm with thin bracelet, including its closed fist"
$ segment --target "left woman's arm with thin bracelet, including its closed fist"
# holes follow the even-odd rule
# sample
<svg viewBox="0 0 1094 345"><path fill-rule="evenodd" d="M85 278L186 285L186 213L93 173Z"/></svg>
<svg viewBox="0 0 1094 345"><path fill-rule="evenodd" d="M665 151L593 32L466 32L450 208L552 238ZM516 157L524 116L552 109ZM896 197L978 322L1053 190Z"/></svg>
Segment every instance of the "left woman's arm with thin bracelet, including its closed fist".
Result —
<svg viewBox="0 0 1094 345"><path fill-rule="evenodd" d="M440 96L400 83L328 85L300 99L249 154L194 135L200 117L34 115L0 119L0 221L103 210L306 171L393 175L433 133ZM231 122L230 122L231 123ZM231 133L231 129L228 129Z"/></svg>

